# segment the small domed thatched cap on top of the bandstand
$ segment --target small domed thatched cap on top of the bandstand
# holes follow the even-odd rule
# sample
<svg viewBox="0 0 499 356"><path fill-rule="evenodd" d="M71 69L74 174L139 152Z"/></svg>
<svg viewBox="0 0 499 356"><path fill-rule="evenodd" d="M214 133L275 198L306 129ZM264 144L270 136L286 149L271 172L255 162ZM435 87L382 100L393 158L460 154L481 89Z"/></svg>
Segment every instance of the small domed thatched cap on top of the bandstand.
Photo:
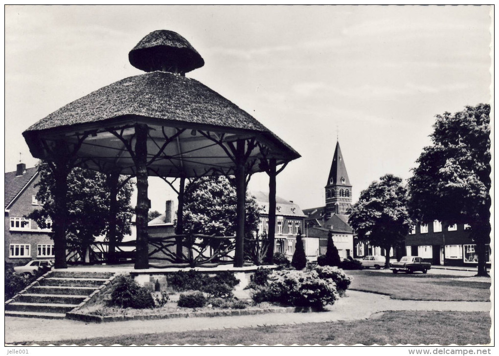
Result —
<svg viewBox="0 0 499 356"><path fill-rule="evenodd" d="M130 63L143 71L187 73L205 65L194 47L180 34L159 30L149 33L128 54Z"/></svg>

